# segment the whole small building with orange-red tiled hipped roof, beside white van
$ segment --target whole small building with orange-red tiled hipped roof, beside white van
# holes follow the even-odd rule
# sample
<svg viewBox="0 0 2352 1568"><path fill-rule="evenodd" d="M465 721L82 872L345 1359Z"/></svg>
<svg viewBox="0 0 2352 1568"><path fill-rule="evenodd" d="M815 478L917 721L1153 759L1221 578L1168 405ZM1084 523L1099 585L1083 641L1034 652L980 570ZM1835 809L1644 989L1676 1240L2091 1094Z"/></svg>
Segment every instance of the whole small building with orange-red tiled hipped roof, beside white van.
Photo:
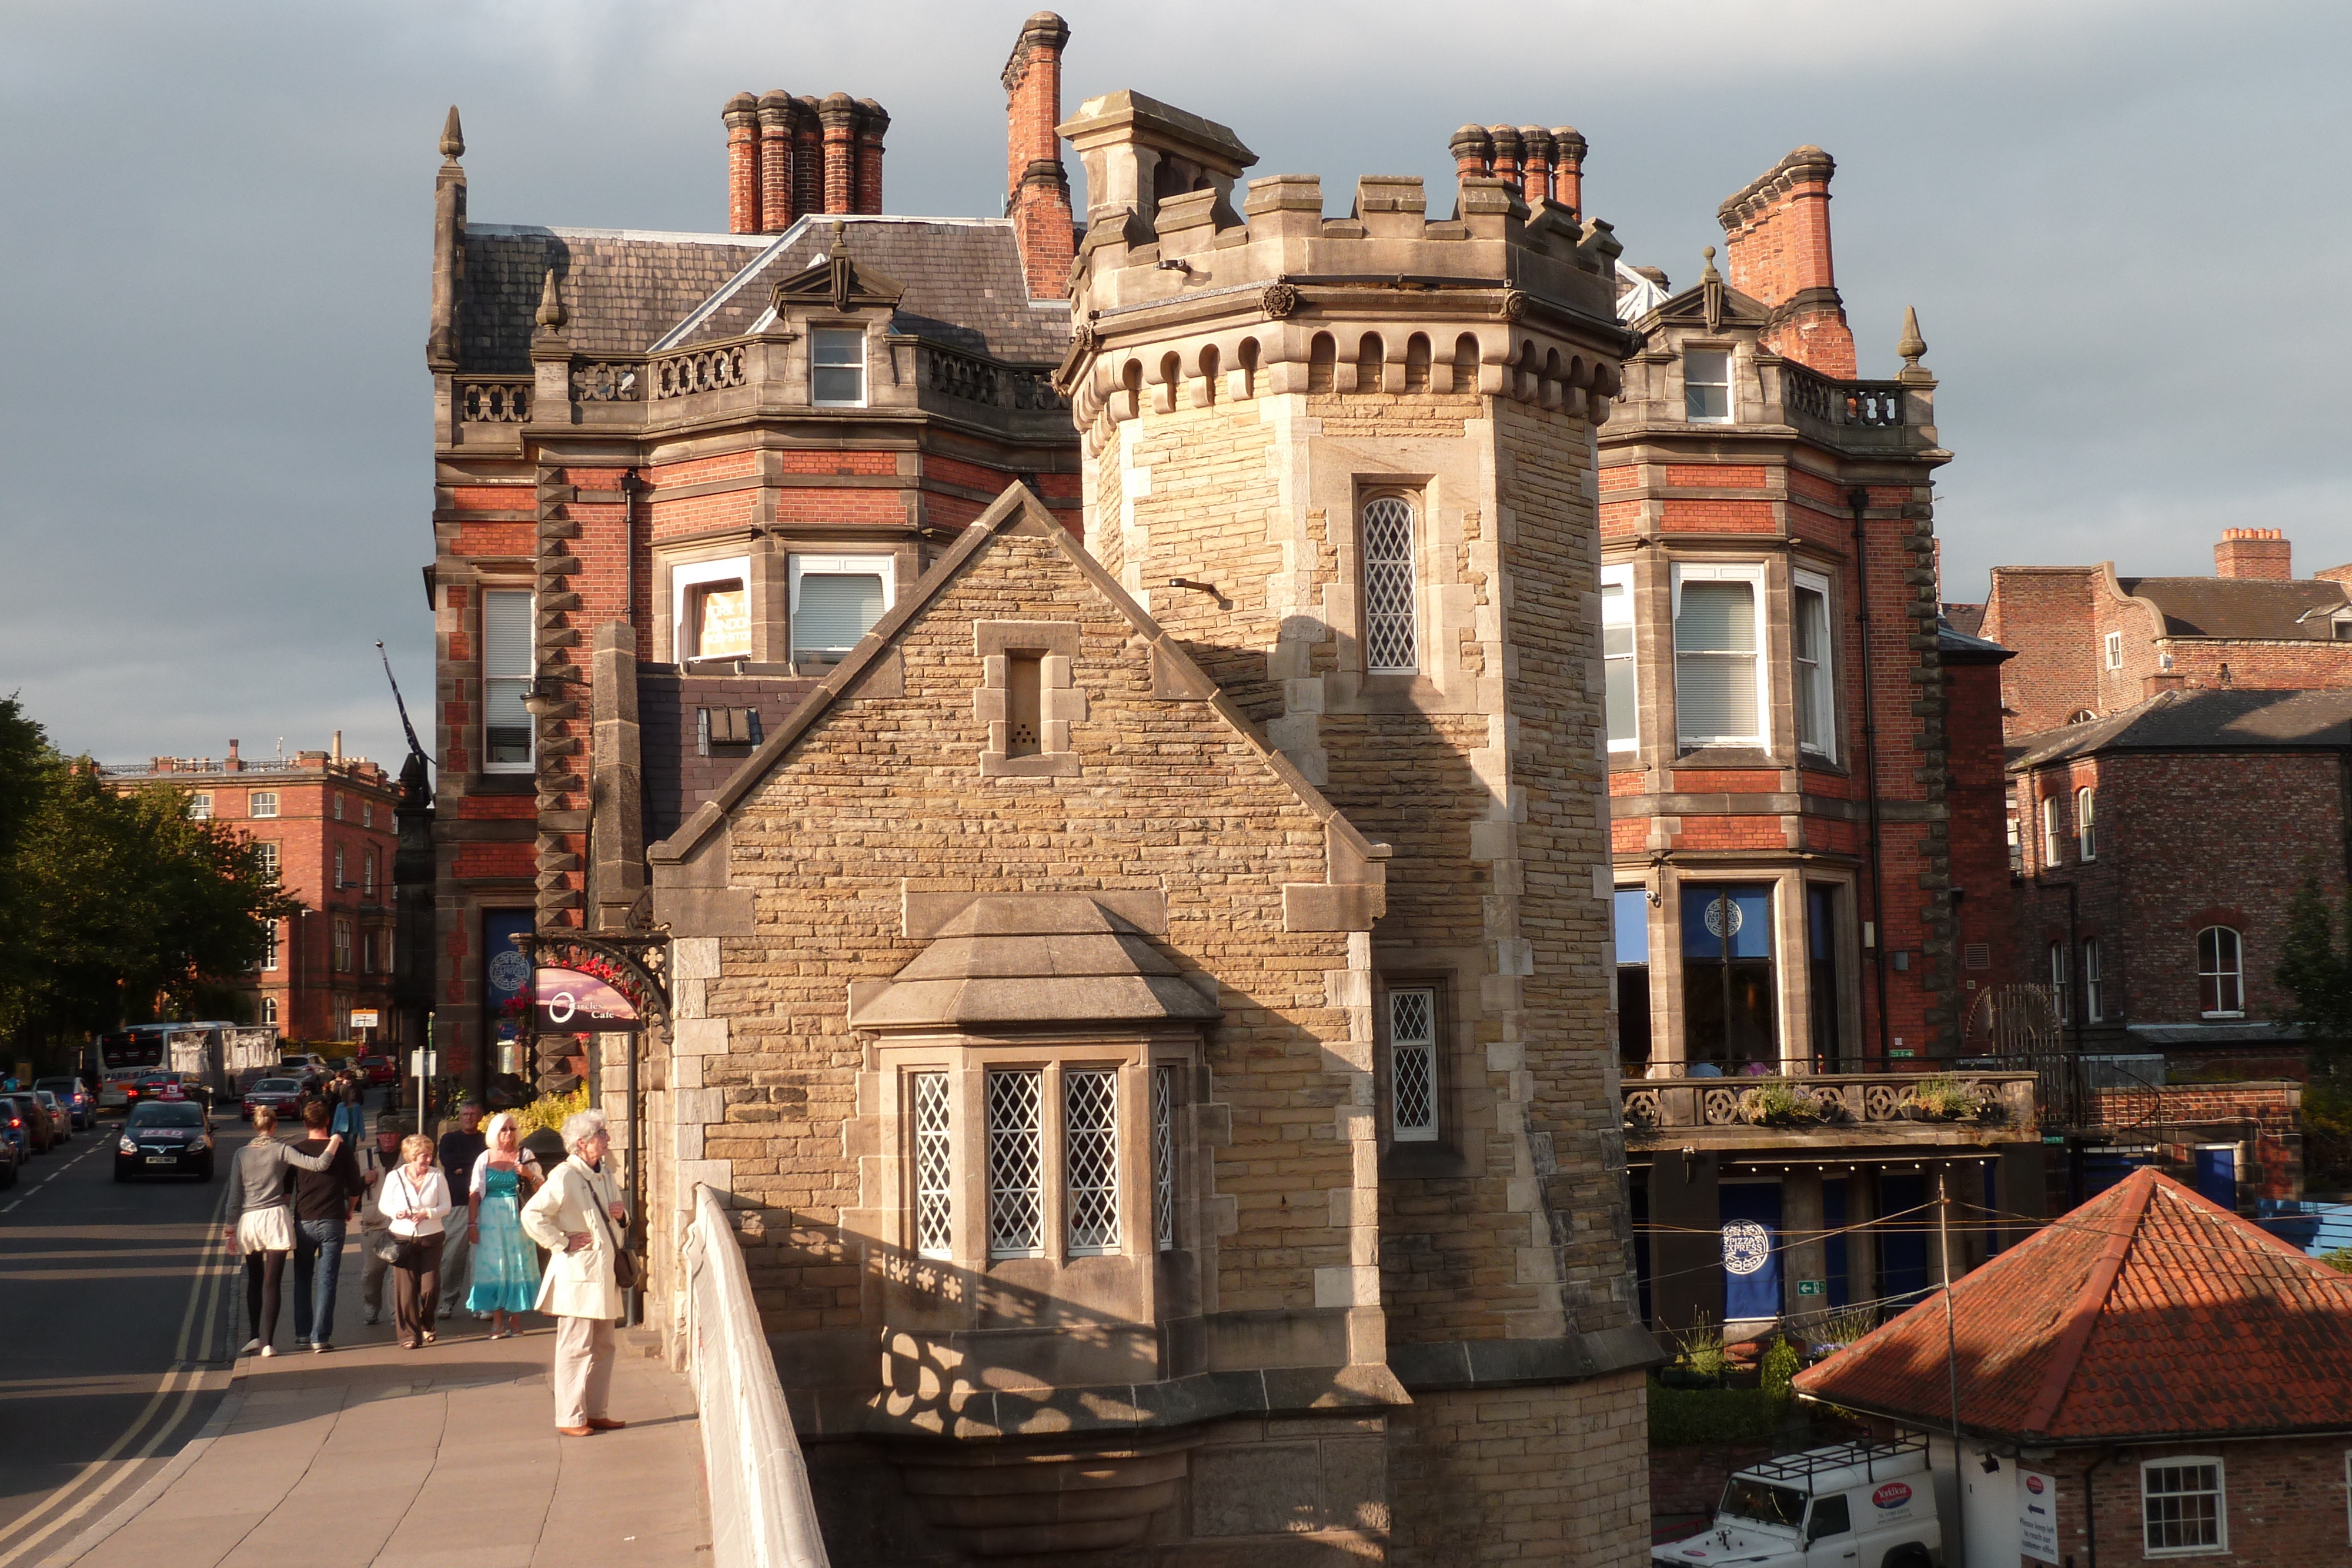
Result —
<svg viewBox="0 0 2352 1568"><path fill-rule="evenodd" d="M2336 1568L2352 1561L2347 1361L2352 1276L2136 1171L1962 1279L1950 1324L1922 1302L1797 1392L1938 1434L1966 1540L1962 1556L1947 1526L1945 1561Z"/></svg>

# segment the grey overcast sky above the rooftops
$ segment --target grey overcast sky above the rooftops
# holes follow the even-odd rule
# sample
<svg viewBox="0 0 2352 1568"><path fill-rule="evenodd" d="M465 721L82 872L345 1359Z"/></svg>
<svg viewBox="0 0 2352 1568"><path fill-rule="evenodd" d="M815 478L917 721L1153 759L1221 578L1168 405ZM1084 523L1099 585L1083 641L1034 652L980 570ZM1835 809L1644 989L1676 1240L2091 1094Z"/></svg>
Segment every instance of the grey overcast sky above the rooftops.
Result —
<svg viewBox="0 0 2352 1568"><path fill-rule="evenodd" d="M426 266L466 118L492 223L724 228L736 89L880 99L887 207L997 214L1018 5L0 0L0 693L106 759L423 722ZM1675 284L1715 205L1837 158L1863 374L1919 308L1945 595L2009 562L2352 559L2352 7L2133 0L1063 7L1065 108L1136 87L1256 174L1421 174L1576 125L1585 207ZM1073 174L1075 160L1073 162ZM430 741L430 731L428 731Z"/></svg>

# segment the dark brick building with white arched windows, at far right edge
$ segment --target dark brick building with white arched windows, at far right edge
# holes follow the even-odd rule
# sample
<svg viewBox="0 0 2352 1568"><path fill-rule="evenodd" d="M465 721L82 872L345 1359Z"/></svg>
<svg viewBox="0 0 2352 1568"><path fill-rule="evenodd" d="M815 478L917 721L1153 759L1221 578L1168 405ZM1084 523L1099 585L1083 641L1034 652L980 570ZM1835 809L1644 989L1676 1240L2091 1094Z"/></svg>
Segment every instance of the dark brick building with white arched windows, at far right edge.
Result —
<svg viewBox="0 0 2352 1568"><path fill-rule="evenodd" d="M2119 1095L2067 1190L2161 1164L2232 1206L2300 1197L2277 966L2303 879L2345 898L2352 691L2166 689L2025 736L2009 776L2025 964Z"/></svg>

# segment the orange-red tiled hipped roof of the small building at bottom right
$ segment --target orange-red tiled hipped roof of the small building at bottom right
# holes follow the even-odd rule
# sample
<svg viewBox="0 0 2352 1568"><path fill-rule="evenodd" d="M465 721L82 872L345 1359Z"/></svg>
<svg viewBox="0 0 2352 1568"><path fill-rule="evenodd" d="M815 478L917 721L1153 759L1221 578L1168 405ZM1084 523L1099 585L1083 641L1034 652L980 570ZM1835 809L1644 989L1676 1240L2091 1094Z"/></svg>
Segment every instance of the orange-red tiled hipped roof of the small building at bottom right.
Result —
<svg viewBox="0 0 2352 1568"><path fill-rule="evenodd" d="M2157 1171L1952 1288L1959 1425L2013 1439L2352 1427L2352 1276ZM1797 1378L1896 1420L1952 1420L1933 1295Z"/></svg>

